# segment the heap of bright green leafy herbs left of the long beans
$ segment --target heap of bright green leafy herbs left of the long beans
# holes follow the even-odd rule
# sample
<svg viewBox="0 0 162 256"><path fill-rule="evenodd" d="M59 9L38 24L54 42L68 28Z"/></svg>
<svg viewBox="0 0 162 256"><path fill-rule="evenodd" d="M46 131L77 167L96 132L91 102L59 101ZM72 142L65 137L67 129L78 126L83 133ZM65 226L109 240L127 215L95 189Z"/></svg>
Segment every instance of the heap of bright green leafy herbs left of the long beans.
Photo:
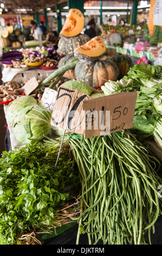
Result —
<svg viewBox="0 0 162 256"><path fill-rule="evenodd" d="M48 230L57 209L69 194L70 182L78 185L69 147L63 146L55 168L60 143L27 144L20 150L3 151L0 161L0 244L17 243L17 238L35 228Z"/></svg>

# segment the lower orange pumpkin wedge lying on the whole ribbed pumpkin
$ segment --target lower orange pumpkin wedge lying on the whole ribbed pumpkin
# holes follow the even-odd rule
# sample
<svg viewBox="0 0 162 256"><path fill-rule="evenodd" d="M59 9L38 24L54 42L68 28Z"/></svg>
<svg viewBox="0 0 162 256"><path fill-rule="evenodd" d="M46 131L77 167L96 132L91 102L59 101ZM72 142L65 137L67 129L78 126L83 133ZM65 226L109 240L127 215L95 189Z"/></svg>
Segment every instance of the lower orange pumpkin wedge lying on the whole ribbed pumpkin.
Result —
<svg viewBox="0 0 162 256"><path fill-rule="evenodd" d="M88 57L98 57L105 53L106 45L99 36L95 36L86 44L75 48L75 51Z"/></svg>

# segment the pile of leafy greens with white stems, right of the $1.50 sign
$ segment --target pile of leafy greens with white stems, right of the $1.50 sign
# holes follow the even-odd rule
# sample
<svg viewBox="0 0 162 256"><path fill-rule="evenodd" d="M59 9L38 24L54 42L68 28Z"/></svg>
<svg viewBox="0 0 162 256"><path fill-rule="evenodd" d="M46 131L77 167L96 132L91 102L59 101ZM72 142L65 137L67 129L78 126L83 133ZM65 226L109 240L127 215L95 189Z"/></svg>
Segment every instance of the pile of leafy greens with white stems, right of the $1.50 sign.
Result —
<svg viewBox="0 0 162 256"><path fill-rule="evenodd" d="M162 149L161 120L161 66L145 63L134 65L120 81L108 81L101 87L105 95L138 90L135 104L134 132L141 142L154 139Z"/></svg>

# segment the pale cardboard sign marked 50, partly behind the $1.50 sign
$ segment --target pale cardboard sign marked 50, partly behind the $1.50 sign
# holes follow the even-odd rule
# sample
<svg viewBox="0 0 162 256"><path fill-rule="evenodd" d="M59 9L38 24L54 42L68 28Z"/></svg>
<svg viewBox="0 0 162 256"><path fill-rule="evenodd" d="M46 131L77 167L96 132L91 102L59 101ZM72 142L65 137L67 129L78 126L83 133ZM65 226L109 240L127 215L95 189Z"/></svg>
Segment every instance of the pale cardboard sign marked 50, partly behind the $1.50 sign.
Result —
<svg viewBox="0 0 162 256"><path fill-rule="evenodd" d="M85 132L82 102L92 99L78 90L59 87L51 116L51 125L80 135Z"/></svg>

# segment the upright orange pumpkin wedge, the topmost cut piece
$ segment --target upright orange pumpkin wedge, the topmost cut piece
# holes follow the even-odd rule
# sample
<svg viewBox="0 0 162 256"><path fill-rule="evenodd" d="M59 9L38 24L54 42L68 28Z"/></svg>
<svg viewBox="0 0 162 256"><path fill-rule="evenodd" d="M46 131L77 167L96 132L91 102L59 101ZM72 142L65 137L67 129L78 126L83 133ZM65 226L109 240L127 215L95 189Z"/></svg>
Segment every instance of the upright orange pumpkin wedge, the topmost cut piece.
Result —
<svg viewBox="0 0 162 256"><path fill-rule="evenodd" d="M78 9L70 9L60 35L71 37L80 34L85 26L85 18Z"/></svg>

